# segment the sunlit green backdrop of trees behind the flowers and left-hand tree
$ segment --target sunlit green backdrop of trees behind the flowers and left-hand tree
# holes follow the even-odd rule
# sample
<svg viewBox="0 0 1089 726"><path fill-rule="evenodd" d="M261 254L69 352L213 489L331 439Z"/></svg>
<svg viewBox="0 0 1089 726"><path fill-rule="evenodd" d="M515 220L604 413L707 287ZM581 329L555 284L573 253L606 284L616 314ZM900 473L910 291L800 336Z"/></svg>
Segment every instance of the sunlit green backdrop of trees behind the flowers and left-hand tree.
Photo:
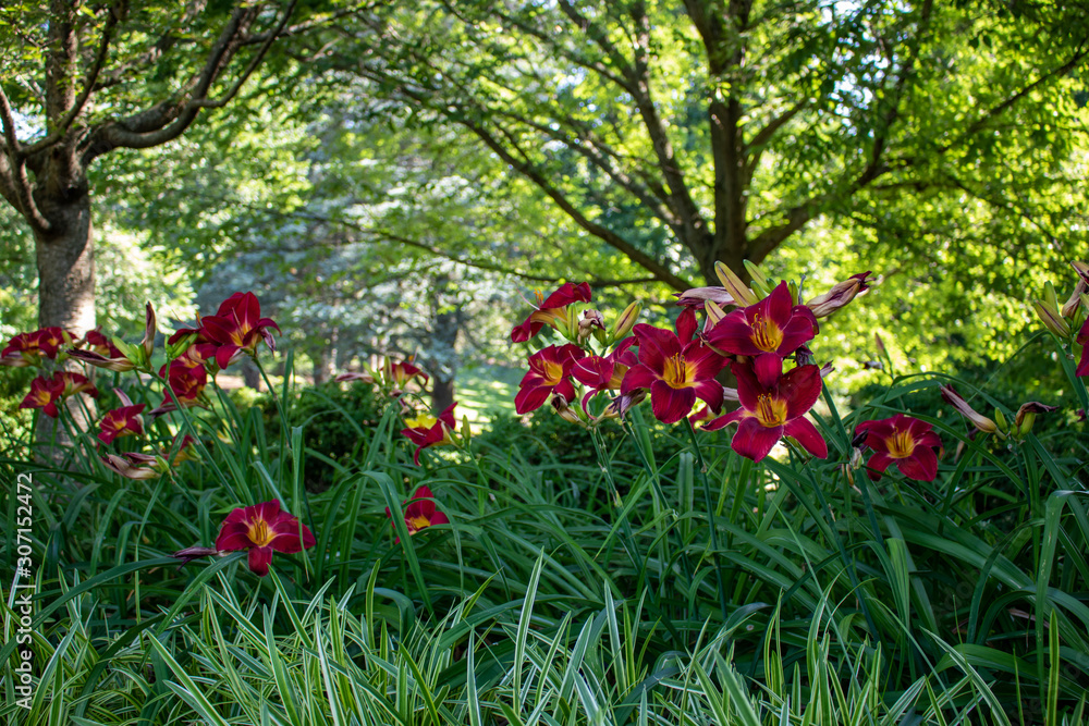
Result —
<svg viewBox="0 0 1089 726"><path fill-rule="evenodd" d="M23 159L34 188L48 172L34 161L46 141L86 146L106 133L96 130L168 108L154 99L175 102L172 128L198 114L207 104L187 84L234 17L194 8L183 34L173 8L77 12L72 102L103 45L98 73L118 82L91 85L68 131L47 134L69 122L27 111L53 48L35 34L66 7L0 15L21 149L4 168L17 180L11 159ZM898 348L902 370L1010 355L1041 268L1085 248L1089 91L1076 4L299 10L238 90L283 21L286 8L274 10L254 16L216 71L205 98L235 94L229 112L173 144L99 156L82 173L101 200L99 231L136 241L145 269L194 288L211 278L266 285L271 309L297 316L297 343L319 370L383 346L431 350L443 368L456 356L440 354L429 321L457 306L479 311L474 319L522 306L519 290L561 279L599 292L634 282L623 295L662 312L654 304L701 284L714 260L752 259L807 275L810 294L874 271L880 284L840 313L847 332L821 352L861 381L873 376L864 369L873 332ZM142 54L154 38L164 45ZM78 161L97 153L85 151ZM20 229L0 231L9 291L32 284L33 262L15 267L44 244ZM265 283L240 276L257 268ZM61 290L44 274L41 295ZM431 305L443 280L450 293ZM99 308L112 317L109 300ZM498 324L460 330L456 346L476 340L481 357L502 355Z"/></svg>

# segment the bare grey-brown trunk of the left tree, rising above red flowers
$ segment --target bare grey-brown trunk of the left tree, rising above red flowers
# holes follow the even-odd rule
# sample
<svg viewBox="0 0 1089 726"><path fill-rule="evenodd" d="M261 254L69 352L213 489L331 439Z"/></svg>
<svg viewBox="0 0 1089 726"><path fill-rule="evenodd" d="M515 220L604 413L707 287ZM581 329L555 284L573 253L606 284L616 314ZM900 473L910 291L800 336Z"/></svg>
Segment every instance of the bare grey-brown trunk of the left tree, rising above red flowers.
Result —
<svg viewBox="0 0 1089 726"><path fill-rule="evenodd" d="M38 262L38 324L77 336L95 327L95 251L86 182L63 199L36 199L49 229L35 230Z"/></svg>

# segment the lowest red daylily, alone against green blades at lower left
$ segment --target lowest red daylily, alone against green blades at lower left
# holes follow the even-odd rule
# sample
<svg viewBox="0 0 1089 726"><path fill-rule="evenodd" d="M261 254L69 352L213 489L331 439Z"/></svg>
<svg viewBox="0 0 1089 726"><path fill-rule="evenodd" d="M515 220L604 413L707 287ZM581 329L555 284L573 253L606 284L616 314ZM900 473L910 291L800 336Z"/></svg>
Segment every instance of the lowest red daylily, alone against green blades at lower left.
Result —
<svg viewBox="0 0 1089 726"><path fill-rule="evenodd" d="M249 550L249 569L258 577L269 574L273 550L293 554L315 544L317 540L309 528L281 510L276 500L234 509L227 515L216 538L216 549L220 552Z"/></svg>

